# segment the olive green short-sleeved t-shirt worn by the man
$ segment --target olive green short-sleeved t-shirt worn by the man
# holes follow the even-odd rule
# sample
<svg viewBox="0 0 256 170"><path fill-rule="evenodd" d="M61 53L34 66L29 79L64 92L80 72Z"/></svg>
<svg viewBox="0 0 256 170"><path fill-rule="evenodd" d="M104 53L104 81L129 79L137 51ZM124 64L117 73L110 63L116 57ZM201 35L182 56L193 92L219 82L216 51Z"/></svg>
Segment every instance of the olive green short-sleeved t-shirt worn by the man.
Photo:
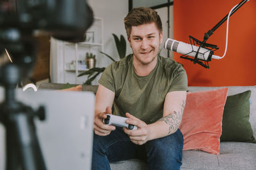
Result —
<svg viewBox="0 0 256 170"><path fill-rule="evenodd" d="M164 99L168 92L188 90L183 67L169 58L157 57L157 64L147 76L138 76L132 64L133 55L109 65L99 83L115 92L113 115L130 113L146 124L163 117Z"/></svg>

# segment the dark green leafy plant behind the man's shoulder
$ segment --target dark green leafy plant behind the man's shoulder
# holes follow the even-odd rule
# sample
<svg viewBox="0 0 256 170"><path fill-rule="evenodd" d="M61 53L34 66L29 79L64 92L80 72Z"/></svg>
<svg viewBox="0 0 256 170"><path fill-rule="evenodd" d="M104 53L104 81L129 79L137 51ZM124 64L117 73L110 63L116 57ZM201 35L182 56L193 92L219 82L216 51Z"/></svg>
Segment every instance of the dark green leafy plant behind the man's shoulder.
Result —
<svg viewBox="0 0 256 170"><path fill-rule="evenodd" d="M118 39L116 34L113 34L113 36L114 36L114 39L115 39L116 48L117 48L117 51L118 51L119 58L122 59L122 58L125 57L125 53L126 53L126 41L125 41L125 38L124 38L124 36L122 34L120 35L120 39ZM106 55L109 59L115 61L113 59L113 57L111 57L110 55L108 55L108 54L106 54L104 52L100 52L100 53ZM100 67L93 67L92 69L89 68L88 71L84 71L83 73L79 74L78 76L88 75L88 79L84 82L84 85L92 85L92 81L100 73L102 73L105 69L106 69L106 67L101 67L101 68Z"/></svg>

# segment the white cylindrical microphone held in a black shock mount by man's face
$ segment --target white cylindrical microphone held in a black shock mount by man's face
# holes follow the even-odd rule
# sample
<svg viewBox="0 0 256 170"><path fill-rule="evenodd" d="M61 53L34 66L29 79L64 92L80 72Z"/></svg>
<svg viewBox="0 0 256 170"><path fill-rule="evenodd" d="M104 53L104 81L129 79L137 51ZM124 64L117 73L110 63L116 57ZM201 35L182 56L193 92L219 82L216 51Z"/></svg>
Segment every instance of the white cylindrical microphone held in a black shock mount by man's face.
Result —
<svg viewBox="0 0 256 170"><path fill-rule="evenodd" d="M190 57L195 57L199 46L190 45L188 43L183 43L182 41L168 38L164 43L164 48L173 52L189 55ZM222 57L213 55L212 50L201 47L198 52L197 59L208 62L211 61L211 59L222 59Z"/></svg>

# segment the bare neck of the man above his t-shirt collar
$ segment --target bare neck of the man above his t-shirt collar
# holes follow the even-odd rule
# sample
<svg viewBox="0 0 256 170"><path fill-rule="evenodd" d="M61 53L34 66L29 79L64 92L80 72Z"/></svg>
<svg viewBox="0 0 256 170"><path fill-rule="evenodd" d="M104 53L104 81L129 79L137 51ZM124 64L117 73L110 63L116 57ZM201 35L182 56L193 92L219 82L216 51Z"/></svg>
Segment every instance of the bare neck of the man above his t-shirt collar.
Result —
<svg viewBox="0 0 256 170"><path fill-rule="evenodd" d="M134 71L138 76L147 76L150 74L153 69L156 67L157 64L157 57L153 62L150 62L150 64L142 64L134 56L133 57L133 66L134 66Z"/></svg>

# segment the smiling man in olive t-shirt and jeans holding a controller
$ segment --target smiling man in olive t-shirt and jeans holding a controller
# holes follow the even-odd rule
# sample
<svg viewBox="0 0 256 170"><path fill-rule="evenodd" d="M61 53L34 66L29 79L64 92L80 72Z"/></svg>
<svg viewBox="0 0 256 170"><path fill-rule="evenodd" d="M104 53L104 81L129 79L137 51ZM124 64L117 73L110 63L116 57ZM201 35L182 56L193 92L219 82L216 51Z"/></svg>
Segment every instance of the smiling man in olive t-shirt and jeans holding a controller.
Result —
<svg viewBox="0 0 256 170"><path fill-rule="evenodd" d="M113 62L99 80L95 99L92 169L109 162L143 159L148 169L180 169L183 136L179 124L188 80L177 62L158 55L163 41L159 15L134 8L124 19L132 55ZM105 125L106 114L129 118L137 130Z"/></svg>

